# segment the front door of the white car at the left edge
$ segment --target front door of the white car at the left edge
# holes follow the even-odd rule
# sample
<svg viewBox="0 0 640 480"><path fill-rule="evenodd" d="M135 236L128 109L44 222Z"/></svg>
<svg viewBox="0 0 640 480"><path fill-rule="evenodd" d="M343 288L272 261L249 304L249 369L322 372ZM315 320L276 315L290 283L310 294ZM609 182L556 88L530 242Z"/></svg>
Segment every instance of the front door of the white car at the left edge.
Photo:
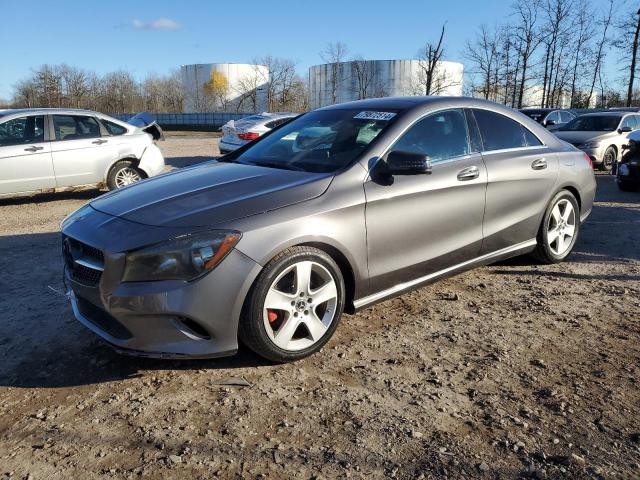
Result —
<svg viewBox="0 0 640 480"><path fill-rule="evenodd" d="M0 194L56 186L45 115L0 123Z"/></svg>

